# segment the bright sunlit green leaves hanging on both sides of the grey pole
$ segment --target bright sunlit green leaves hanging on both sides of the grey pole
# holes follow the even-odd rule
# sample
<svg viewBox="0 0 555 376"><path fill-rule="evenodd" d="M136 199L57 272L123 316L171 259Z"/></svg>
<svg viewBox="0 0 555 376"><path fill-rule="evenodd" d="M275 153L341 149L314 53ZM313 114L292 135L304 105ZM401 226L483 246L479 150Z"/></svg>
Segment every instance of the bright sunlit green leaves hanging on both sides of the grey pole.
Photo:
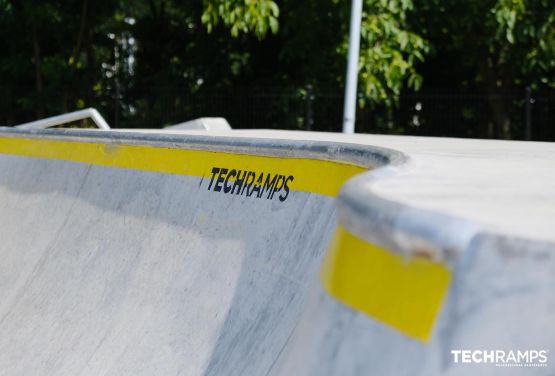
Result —
<svg viewBox="0 0 555 376"><path fill-rule="evenodd" d="M310 60L306 54L314 55L312 48L319 48L316 58L320 54L329 57L329 53L323 51L325 48L332 54L335 52L335 58L343 63L348 47L347 25L350 17L346 5L338 0L284 1L284 29L296 32L291 38L292 46L284 47L288 56L302 56ZM407 18L412 10L410 0L365 0L359 64L363 93L361 103L392 106L403 87L420 88L422 77L415 67L424 60L428 45L407 28ZM264 38L269 31L278 32L278 17L279 8L271 0L205 0L202 20L208 31L222 20L235 37L241 32L254 32L258 38ZM329 23L322 25L318 22L320 20L328 20ZM322 33L322 26L340 37L322 38L329 34ZM299 43L299 40L305 43ZM299 51L294 52L295 48ZM321 62L320 59L320 65ZM342 65L343 69L333 72L336 80L343 79ZM338 64L333 66L337 68Z"/></svg>

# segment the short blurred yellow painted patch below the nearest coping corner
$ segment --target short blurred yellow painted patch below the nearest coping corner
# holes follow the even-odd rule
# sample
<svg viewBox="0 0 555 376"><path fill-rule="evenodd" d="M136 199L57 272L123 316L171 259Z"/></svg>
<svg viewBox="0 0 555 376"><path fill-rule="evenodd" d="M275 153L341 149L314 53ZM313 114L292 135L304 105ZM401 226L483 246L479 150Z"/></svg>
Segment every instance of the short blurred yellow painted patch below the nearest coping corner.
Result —
<svg viewBox="0 0 555 376"><path fill-rule="evenodd" d="M451 272L440 263L406 259L338 226L320 274L326 291L402 333L427 341Z"/></svg>

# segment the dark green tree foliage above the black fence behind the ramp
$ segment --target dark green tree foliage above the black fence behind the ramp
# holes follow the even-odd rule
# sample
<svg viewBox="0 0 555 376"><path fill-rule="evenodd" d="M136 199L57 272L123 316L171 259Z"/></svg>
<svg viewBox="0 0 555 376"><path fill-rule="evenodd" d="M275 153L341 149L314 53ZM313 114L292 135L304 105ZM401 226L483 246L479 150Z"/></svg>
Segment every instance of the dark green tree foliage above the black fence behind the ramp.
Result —
<svg viewBox="0 0 555 376"><path fill-rule="evenodd" d="M552 0L363 9L361 105L422 86L555 88ZM91 105L140 118L172 91L342 92L349 17L340 0L0 0L0 124ZM511 105L490 103L501 133Z"/></svg>

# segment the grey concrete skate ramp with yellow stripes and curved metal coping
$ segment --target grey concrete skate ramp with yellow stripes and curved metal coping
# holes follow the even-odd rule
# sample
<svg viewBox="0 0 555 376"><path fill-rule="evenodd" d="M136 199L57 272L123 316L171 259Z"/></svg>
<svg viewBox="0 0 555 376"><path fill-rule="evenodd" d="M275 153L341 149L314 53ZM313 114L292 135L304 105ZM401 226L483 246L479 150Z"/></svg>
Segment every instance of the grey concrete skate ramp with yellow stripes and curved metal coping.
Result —
<svg viewBox="0 0 555 376"><path fill-rule="evenodd" d="M543 143L0 129L0 373L553 375L554 167Z"/></svg>

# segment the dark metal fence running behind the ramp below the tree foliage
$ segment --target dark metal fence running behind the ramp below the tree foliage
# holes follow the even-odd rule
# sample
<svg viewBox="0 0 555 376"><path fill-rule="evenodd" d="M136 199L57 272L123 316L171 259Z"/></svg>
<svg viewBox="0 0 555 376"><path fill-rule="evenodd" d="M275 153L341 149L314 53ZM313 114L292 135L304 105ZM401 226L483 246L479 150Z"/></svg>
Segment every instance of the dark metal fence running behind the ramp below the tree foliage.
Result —
<svg viewBox="0 0 555 376"><path fill-rule="evenodd" d="M176 87L133 88L90 98L114 128L159 128L197 117L225 117L233 128L298 129L338 132L342 126L340 89L236 88L191 93ZM49 98L55 98L50 93ZM5 97L4 97L5 98ZM56 102L51 102L56 103ZM0 103L1 107L4 107ZM497 113L495 109L497 108ZM505 132L499 131L499 108ZM75 108L50 105L45 115ZM2 109L0 109L2 110ZM3 110L2 110L3 111ZM33 120L12 116L11 122ZM1 118L0 124L6 123ZM497 118L496 118L497 116ZM555 91L529 89L496 96L476 91L428 89L405 93L393 108L365 106L357 112L357 132L439 137L511 138L555 141Z"/></svg>

